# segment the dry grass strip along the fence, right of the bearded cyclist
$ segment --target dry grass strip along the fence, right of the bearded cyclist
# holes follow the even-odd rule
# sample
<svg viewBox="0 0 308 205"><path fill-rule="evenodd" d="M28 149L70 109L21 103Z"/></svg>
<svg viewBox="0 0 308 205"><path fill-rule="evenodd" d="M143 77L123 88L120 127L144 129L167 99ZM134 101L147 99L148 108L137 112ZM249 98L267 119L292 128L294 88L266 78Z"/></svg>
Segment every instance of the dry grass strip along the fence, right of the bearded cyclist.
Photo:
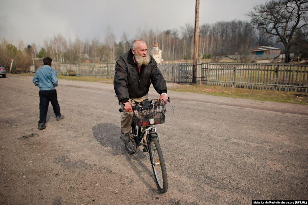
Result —
<svg viewBox="0 0 308 205"><path fill-rule="evenodd" d="M294 103L308 105L308 94L274 90L255 90L247 88L220 87L207 85L176 85L168 88L170 91L192 92L223 97L274 101L279 103Z"/></svg>

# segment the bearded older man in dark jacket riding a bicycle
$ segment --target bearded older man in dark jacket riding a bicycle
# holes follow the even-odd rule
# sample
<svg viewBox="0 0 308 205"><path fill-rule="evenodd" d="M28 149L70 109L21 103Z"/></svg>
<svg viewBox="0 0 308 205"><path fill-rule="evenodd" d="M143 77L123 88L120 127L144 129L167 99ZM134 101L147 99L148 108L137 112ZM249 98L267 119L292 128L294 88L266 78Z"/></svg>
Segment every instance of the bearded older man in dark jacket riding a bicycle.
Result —
<svg viewBox="0 0 308 205"><path fill-rule="evenodd" d="M131 125L134 113L131 104L148 99L150 85L153 85L160 99L167 101L167 85L163 75L157 68L156 61L148 54L148 46L143 40L132 42L131 49L122 54L115 63L113 85L121 108L121 137L130 141ZM144 144L146 140L144 138Z"/></svg>

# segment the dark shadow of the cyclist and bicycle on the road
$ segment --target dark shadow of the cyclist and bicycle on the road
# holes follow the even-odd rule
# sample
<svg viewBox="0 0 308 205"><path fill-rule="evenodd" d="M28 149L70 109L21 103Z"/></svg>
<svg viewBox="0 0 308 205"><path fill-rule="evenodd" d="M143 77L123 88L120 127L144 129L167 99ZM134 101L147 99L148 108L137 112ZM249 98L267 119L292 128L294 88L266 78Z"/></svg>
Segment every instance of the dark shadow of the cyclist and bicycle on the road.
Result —
<svg viewBox="0 0 308 205"><path fill-rule="evenodd" d="M125 149L124 143L120 140L120 127L111 123L100 123L92 127L93 136L103 146L112 149L113 155L123 155L130 168L135 175L147 186L151 191L159 193L156 188L154 174L150 164L148 153L142 152L137 147L135 154L129 154ZM146 174L143 174L146 172ZM151 181L152 180L152 181Z"/></svg>

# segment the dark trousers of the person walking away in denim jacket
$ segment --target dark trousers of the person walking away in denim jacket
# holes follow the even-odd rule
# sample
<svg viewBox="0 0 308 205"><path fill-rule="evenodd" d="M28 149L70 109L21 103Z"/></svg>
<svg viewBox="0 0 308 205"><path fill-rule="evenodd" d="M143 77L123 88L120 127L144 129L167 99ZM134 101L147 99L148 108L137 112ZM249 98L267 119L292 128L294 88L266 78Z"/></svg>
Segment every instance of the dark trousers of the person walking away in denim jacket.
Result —
<svg viewBox="0 0 308 205"><path fill-rule="evenodd" d="M58 103L57 91L39 91L39 123L46 123L46 116L48 111L49 102L54 109L56 115L61 115L60 106Z"/></svg>

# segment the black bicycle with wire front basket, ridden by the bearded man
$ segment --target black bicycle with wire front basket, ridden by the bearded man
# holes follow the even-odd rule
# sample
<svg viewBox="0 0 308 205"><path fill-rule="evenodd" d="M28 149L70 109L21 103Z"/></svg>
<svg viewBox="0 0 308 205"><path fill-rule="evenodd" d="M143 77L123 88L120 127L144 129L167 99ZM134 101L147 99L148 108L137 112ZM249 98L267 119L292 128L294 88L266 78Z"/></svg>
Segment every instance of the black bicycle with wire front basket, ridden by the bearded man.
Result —
<svg viewBox="0 0 308 205"><path fill-rule="evenodd" d="M170 102L169 97L168 102ZM130 141L124 143L126 150L130 154L136 153L136 148L140 145L143 145L145 151L149 153L156 185L161 193L166 193L168 190L167 172L163 153L159 145L158 134L154 125L164 123L166 104L162 99L144 100L133 103L132 109L135 119L132 122L132 134ZM120 108L119 111L123 112L124 110ZM144 134L146 135L147 146L141 142Z"/></svg>

